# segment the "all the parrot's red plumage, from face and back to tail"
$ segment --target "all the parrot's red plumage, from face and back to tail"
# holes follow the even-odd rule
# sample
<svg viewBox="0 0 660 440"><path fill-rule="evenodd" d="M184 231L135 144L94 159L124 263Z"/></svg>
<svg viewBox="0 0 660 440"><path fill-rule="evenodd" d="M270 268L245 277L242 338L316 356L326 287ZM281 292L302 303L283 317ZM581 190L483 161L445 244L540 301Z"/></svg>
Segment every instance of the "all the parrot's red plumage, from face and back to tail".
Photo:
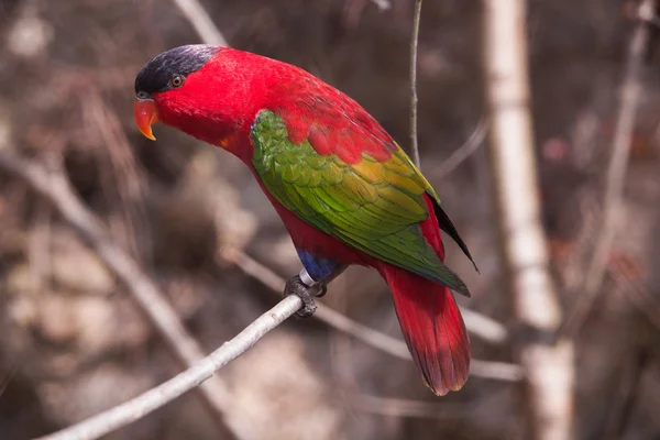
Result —
<svg viewBox="0 0 660 440"><path fill-rule="evenodd" d="M375 267L387 282L402 330L415 363L437 394L457 391L468 380L470 343L449 288L373 257L305 222L264 187L252 165L250 130L262 109L277 111L289 140L309 140L320 155L336 154L349 164L367 153L387 161L396 144L358 102L307 72L246 52L222 48L184 87L154 92L161 121L222 146L255 174L299 250L338 263ZM433 202L420 222L426 241L444 260ZM452 235L453 237L453 235Z"/></svg>

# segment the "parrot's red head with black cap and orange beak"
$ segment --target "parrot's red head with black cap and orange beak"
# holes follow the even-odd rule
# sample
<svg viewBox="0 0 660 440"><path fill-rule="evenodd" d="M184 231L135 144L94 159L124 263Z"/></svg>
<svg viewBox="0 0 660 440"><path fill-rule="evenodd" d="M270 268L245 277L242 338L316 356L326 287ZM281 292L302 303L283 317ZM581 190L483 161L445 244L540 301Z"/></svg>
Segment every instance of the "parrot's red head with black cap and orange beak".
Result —
<svg viewBox="0 0 660 440"><path fill-rule="evenodd" d="M250 69L240 51L193 44L150 59L135 78L135 123L154 140L158 121L221 145L250 107Z"/></svg>

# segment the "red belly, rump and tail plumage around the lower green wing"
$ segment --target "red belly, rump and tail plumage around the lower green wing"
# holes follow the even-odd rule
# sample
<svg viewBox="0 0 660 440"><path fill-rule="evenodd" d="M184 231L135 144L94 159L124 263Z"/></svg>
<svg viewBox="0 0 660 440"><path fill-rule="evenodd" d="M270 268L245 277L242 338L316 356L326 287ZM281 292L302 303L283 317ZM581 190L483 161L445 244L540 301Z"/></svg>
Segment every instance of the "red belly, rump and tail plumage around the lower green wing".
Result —
<svg viewBox="0 0 660 440"><path fill-rule="evenodd" d="M375 267L387 283L402 332L425 383L443 396L459 391L470 372L470 339L453 295L446 286L384 263L306 223L262 189L282 218L297 249L342 262ZM440 260L444 246L432 202L429 218L421 222L425 238Z"/></svg>

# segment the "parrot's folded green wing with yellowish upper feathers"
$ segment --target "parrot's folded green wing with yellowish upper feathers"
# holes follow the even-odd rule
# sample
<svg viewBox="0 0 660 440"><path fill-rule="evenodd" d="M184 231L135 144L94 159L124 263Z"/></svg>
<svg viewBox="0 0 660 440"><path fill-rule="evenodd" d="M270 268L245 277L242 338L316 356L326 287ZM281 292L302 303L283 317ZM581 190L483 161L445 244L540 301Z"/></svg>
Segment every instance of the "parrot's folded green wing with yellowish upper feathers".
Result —
<svg viewBox="0 0 660 440"><path fill-rule="evenodd" d="M400 150L378 162L367 154L348 164L320 155L309 141L289 141L282 118L262 110L252 125L252 164L271 194L323 232L376 258L470 296L422 235L429 212L424 194L438 197Z"/></svg>

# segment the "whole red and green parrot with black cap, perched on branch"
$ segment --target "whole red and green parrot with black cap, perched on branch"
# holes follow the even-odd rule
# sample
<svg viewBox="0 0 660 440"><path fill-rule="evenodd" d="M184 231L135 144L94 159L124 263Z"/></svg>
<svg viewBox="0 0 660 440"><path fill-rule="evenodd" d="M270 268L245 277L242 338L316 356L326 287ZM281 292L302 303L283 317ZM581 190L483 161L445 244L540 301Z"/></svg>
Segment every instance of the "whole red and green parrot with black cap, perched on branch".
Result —
<svg viewBox="0 0 660 440"><path fill-rule="evenodd" d="M345 265L376 268L426 385L437 395L463 386L470 342L450 289L470 292L443 264L440 229L474 261L433 188L366 110L301 68L210 45L152 58L135 94L146 138L162 121L248 165L314 282ZM285 295L309 305L308 285L293 277Z"/></svg>

